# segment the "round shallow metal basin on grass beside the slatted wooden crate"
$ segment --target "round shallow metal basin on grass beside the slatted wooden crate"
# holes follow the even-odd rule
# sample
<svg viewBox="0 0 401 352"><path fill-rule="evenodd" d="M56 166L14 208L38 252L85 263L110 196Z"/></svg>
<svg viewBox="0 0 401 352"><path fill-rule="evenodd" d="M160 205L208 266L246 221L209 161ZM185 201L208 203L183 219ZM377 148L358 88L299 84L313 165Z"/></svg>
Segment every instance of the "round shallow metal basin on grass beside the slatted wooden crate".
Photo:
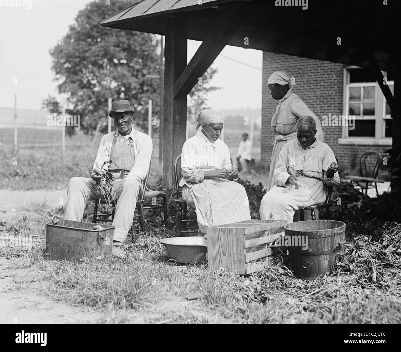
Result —
<svg viewBox="0 0 401 352"><path fill-rule="evenodd" d="M172 237L160 240L167 255L177 263L194 264L206 261L207 242L205 237Z"/></svg>

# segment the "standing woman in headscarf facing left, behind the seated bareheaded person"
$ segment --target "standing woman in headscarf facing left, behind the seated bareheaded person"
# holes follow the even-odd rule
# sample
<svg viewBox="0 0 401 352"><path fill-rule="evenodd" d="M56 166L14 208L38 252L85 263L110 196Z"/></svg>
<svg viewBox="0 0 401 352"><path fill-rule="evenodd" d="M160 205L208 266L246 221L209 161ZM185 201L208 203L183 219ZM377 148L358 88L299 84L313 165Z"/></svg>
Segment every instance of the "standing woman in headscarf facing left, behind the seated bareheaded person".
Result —
<svg viewBox="0 0 401 352"><path fill-rule="evenodd" d="M308 108L298 95L292 91L294 77L288 76L284 71L274 72L267 80L271 97L279 101L271 119L271 129L275 133L273 151L271 153L269 183L267 191L274 186L274 167L277 163L281 149L287 142L296 139L296 123L300 117L311 116L316 122L316 135L318 141L324 142L322 125L318 117Z"/></svg>

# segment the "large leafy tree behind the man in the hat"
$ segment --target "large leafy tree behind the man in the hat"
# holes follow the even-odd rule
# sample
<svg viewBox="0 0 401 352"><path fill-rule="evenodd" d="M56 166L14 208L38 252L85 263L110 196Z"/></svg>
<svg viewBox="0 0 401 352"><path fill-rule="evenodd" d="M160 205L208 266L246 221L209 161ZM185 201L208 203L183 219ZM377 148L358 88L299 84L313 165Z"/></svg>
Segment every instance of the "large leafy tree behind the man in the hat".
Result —
<svg viewBox="0 0 401 352"><path fill-rule="evenodd" d="M87 4L67 35L50 51L58 93L68 95L66 113L80 115L86 134L92 135L98 124L101 132L107 131L109 97L130 101L136 111L135 123L141 127L147 124L144 112L149 99L153 116L159 114L160 49L156 36L100 26L101 20L126 7L125 1L117 0ZM43 105L52 113L61 113L54 111L60 108L55 97L48 97Z"/></svg>

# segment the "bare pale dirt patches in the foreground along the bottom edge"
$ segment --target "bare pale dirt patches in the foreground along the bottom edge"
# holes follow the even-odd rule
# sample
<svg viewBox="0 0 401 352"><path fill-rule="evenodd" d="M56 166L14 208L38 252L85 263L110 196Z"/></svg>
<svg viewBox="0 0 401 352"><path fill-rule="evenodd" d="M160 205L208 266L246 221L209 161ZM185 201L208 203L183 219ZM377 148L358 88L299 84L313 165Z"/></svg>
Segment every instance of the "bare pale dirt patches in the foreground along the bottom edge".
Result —
<svg viewBox="0 0 401 352"><path fill-rule="evenodd" d="M25 270L9 267L9 259L0 257L0 324L109 324L107 310L91 310L83 306L72 306L49 298L46 282L37 276L26 275ZM186 270L177 267L176 270ZM173 319L162 317L194 317L192 324L207 319L209 323L222 323L220 317L212 316L200 308L196 299L171 298L160 300L158 304L147 307L147 314L132 314L126 323L130 324L168 324Z"/></svg>

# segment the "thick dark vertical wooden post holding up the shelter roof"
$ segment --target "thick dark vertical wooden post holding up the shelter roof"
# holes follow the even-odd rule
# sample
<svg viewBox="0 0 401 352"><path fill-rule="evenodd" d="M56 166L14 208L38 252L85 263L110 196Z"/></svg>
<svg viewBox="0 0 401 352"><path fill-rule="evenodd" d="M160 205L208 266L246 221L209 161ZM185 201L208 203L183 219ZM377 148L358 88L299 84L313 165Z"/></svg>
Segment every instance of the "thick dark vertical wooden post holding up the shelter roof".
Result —
<svg viewBox="0 0 401 352"><path fill-rule="evenodd" d="M186 95L174 98L174 83L186 66L186 18L166 18L164 46L164 103L163 103L163 187L173 184L173 163L181 153L186 135Z"/></svg>

